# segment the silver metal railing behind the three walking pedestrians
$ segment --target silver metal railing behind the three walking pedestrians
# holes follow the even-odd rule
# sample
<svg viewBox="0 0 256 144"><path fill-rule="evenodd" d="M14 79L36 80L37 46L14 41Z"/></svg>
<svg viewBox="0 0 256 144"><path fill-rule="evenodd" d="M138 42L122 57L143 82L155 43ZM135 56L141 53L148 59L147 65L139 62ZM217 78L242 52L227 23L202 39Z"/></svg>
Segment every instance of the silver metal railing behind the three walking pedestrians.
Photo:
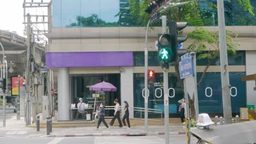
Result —
<svg viewBox="0 0 256 144"><path fill-rule="evenodd" d="M114 110L115 109L115 106L106 106L105 107L105 110ZM120 113L122 112L122 110L124 109L124 106L120 106ZM140 118L131 118L131 119L144 119L144 118L142 118L142 112L145 112L145 108L143 108L143 107L129 107L129 111L130 112L135 112L135 111L138 111L139 113L140 113ZM148 119L149 121L158 121L158 122L162 122L162 110L159 110L159 109L148 109L148 112L153 112L153 113L159 113L160 114L160 116L161 116L161 118L160 118L160 120L158 120L158 119ZM112 117L105 117L105 118L113 118L113 116Z"/></svg>

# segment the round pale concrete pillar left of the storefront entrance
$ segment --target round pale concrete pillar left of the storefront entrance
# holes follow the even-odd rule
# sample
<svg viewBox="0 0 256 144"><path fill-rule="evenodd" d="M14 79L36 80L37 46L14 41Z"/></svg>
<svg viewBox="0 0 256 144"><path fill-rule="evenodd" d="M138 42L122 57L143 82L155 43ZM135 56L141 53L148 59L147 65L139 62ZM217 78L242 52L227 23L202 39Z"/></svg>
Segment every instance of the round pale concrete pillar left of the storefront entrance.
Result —
<svg viewBox="0 0 256 144"><path fill-rule="evenodd" d="M70 82L69 68L58 68L58 119L68 121L70 119Z"/></svg>

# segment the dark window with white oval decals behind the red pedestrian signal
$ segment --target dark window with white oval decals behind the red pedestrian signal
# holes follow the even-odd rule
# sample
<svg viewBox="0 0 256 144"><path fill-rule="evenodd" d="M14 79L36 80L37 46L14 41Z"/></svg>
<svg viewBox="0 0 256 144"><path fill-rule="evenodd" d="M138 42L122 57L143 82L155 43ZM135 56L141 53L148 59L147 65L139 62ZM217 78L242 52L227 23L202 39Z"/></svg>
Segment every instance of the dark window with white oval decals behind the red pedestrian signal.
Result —
<svg viewBox="0 0 256 144"><path fill-rule="evenodd" d="M134 95L133 101L135 107L144 107L144 98L142 91L144 89L144 74L134 74L133 75L133 83L134 83ZM169 112L170 113L178 113L179 103L178 100L182 99L183 91L179 86L177 77L173 73L168 74L168 86L173 88L175 91L175 96L173 96L173 90L169 91ZM160 109L162 113L164 113L164 91L163 91L163 75L161 73L155 73L155 83L149 86L149 98L148 98L148 107L149 109ZM135 116L136 116L135 112ZM153 113L149 113L153 116Z"/></svg>

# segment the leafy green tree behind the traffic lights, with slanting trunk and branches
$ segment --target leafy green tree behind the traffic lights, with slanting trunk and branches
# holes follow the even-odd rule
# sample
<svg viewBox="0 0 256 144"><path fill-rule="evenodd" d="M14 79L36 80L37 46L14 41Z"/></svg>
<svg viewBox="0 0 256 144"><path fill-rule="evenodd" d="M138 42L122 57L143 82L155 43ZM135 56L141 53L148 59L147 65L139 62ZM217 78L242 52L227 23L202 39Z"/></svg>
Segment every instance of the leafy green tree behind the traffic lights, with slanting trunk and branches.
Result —
<svg viewBox="0 0 256 144"><path fill-rule="evenodd" d="M185 2L185 1L187 0L173 0L173 2ZM251 3L249 2L249 0L235 0L235 1L237 1L238 4L242 5L245 11L249 11L251 15L254 15L253 7L251 6ZM129 9L127 10L126 13L128 13L128 11L139 11L139 15L138 13L135 13L134 15L131 13L131 15L129 15L129 19L131 21L138 20L140 23L139 26L146 26L149 19L148 18L149 15L145 13L144 10L147 8L147 5L150 2L142 1L139 4L139 7L138 7L137 0L129 0L128 2L129 2ZM214 4L212 4L211 7L212 7L211 9L202 9L197 0L191 0L188 4L185 4L181 7L173 7L165 11L163 15L166 15L168 20L187 21L190 26L217 25L218 23L217 10L216 10L217 7ZM122 14L121 11L118 15L120 14ZM197 59L207 59L207 62L208 62L205 70L203 71L202 76L200 77L199 82L197 83L197 86L200 86L200 84L202 83L202 80L206 75L207 69L210 67L214 59L216 59L219 56L218 32L212 34L210 31L207 31L202 27L196 27L192 32L188 34L188 36L190 39L193 40L193 43L189 45L188 50L189 51L193 50L196 53L199 53L199 56L197 57ZM233 34L230 31L226 31L228 53L233 55L236 53L236 47L239 45L239 43L236 43L234 41L235 37L237 37L237 34ZM180 83L180 86L182 87L182 89L184 89L183 82L181 80L181 77L179 76L178 61L174 62L174 67L176 69L176 75ZM189 105L191 108L191 116L195 118L194 94L192 98L189 96Z"/></svg>

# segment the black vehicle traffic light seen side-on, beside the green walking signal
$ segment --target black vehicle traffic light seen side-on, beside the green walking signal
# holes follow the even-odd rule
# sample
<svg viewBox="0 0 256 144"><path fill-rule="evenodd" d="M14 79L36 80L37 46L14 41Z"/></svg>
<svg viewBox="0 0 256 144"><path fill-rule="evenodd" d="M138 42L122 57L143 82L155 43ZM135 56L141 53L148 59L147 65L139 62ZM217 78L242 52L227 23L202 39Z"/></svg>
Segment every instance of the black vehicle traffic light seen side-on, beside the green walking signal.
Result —
<svg viewBox="0 0 256 144"><path fill-rule="evenodd" d="M187 40L187 35L179 35L178 32L187 27L187 22L176 22L171 21L169 23L170 36L171 36L171 47L175 47L176 57L171 62L176 61L177 57L181 57L188 52L187 49L178 49L178 45L183 41Z"/></svg>

